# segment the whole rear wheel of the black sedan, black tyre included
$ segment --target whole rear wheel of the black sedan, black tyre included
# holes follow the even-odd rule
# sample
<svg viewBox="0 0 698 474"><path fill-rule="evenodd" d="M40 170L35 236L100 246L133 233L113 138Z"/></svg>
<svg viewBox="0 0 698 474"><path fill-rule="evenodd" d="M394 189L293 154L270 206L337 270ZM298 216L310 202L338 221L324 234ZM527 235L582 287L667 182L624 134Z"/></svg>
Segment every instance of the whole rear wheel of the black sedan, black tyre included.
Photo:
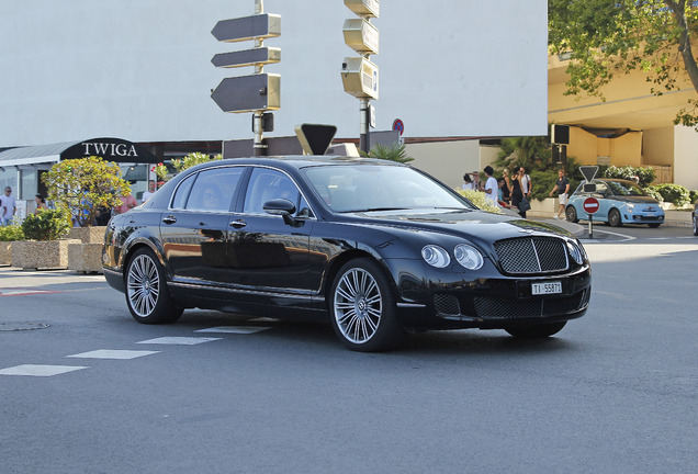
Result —
<svg viewBox="0 0 698 474"><path fill-rule="evenodd" d="M150 249L137 250L126 267L126 304L143 324L174 323L182 315L170 297L165 269Z"/></svg>

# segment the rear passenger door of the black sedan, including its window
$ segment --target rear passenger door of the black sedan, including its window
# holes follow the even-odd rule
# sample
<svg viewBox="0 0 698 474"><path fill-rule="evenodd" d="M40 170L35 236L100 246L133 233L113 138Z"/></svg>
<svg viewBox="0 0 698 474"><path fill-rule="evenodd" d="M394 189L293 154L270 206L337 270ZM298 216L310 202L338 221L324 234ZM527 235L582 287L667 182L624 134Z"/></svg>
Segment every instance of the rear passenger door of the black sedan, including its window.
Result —
<svg viewBox="0 0 698 474"><path fill-rule="evenodd" d="M219 284L226 280L230 207L245 169L210 168L179 184L160 222L160 239L173 281Z"/></svg>

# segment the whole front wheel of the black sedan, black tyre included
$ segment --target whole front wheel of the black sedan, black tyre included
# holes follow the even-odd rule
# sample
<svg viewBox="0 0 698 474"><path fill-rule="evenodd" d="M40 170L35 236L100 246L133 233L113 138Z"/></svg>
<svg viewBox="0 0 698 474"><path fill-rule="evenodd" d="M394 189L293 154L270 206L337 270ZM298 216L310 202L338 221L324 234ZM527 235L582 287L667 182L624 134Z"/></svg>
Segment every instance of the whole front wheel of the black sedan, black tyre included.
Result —
<svg viewBox="0 0 698 474"><path fill-rule="evenodd" d="M359 258L345 263L329 296L333 328L349 349L380 352L397 347L404 338L395 294L375 261Z"/></svg>

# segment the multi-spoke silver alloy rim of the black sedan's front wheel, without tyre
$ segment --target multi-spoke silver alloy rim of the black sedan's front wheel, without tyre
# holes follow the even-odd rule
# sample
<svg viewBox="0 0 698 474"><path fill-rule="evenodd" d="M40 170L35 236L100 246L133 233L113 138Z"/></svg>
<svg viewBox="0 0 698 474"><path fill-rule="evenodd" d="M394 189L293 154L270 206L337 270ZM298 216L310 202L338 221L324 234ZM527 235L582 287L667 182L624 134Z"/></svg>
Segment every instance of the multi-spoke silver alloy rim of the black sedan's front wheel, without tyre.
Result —
<svg viewBox="0 0 698 474"><path fill-rule="evenodd" d="M371 273L360 268L345 273L335 291L334 308L337 326L347 340L370 340L383 314L381 290Z"/></svg>

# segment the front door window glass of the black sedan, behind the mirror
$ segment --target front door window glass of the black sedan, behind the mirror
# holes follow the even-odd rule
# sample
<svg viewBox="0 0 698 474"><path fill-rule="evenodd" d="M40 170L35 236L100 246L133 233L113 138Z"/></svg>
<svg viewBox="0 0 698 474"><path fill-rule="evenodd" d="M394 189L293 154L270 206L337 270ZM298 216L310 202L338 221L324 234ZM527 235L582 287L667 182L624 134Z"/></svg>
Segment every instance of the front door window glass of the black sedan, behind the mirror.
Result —
<svg viewBox="0 0 698 474"><path fill-rule="evenodd" d="M295 183L284 173L267 168L255 168L249 178L243 212L267 214L263 205L272 199L286 199L299 208L300 195ZM305 206L307 207L307 204Z"/></svg>

